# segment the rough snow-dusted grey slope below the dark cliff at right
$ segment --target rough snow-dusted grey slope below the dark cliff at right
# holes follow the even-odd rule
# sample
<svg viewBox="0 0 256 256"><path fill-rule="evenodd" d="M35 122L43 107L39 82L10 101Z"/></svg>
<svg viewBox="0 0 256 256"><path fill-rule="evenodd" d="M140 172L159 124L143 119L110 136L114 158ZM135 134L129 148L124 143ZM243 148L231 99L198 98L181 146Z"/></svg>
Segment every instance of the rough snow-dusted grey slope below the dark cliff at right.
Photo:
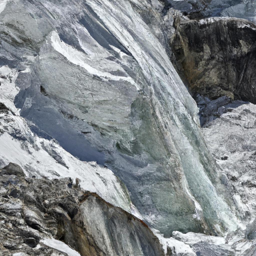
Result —
<svg viewBox="0 0 256 256"><path fill-rule="evenodd" d="M202 129L209 150L233 185L233 198L247 223L255 218L256 106L228 112Z"/></svg>

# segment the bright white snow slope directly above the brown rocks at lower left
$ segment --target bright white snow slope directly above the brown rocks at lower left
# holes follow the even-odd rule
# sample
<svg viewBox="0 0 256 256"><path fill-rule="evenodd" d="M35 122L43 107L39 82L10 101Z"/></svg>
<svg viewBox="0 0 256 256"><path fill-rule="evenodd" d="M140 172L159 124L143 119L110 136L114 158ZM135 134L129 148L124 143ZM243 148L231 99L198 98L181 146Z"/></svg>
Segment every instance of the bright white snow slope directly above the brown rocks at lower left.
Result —
<svg viewBox="0 0 256 256"><path fill-rule="evenodd" d="M49 136L38 136L35 128L20 116L0 113L0 168L11 162L20 165L28 177L71 177L73 182L78 178L84 189L130 212L128 191L111 170L78 160Z"/></svg>

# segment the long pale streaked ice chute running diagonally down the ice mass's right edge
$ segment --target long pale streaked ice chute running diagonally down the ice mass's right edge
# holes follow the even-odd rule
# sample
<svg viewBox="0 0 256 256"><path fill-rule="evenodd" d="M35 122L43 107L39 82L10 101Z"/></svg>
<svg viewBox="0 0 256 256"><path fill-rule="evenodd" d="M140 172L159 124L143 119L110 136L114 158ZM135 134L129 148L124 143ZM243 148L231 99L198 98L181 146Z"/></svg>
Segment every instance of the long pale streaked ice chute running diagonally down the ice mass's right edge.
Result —
<svg viewBox="0 0 256 256"><path fill-rule="evenodd" d="M217 232L223 232L218 223L235 230L236 217L209 179L217 175L216 167L207 153L198 122L193 121L198 111L196 104L165 50L127 1L115 4L112 1L87 3L122 45L129 48L142 68L166 145L179 155L189 188L201 205L207 222L215 226ZM217 180L216 177L214 179Z"/></svg>

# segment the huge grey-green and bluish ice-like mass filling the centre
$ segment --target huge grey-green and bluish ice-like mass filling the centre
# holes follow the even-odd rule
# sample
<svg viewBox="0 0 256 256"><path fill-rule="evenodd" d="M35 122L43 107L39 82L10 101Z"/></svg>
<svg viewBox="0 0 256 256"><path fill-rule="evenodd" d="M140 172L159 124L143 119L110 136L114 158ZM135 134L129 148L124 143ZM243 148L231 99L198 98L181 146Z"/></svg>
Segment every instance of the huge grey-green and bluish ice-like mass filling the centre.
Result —
<svg viewBox="0 0 256 256"><path fill-rule="evenodd" d="M225 233L238 223L230 191L202 138L196 103L163 47L162 25L154 20L153 33L146 23L147 11L163 7L9 1L0 57L13 73L0 89L14 86L7 103L64 149L101 159L161 233Z"/></svg>

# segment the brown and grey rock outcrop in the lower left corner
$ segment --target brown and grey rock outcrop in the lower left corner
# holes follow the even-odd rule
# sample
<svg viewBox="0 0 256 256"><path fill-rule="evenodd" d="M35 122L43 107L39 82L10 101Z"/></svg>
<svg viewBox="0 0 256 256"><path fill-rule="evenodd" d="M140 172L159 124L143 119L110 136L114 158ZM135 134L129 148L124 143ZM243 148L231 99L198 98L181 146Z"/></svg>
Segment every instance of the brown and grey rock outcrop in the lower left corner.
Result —
<svg viewBox="0 0 256 256"><path fill-rule="evenodd" d="M8 166L12 173L17 168ZM60 253L49 247L56 241L51 237L87 256L164 255L143 221L68 178L31 179L9 172L0 176L0 189L1 255Z"/></svg>

